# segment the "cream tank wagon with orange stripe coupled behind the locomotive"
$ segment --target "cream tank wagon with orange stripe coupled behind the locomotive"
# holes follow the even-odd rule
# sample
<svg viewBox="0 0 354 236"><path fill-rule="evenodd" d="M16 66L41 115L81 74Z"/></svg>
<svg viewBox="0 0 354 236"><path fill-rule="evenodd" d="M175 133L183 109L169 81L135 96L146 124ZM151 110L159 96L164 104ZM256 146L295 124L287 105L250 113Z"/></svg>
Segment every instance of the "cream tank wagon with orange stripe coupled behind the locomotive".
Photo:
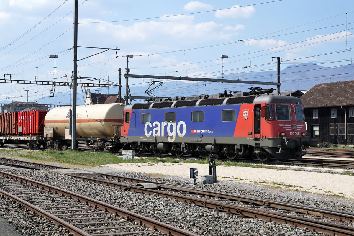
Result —
<svg viewBox="0 0 354 236"><path fill-rule="evenodd" d="M76 107L76 140L96 149L115 151L121 148L120 132L125 104L109 103ZM47 146L60 149L71 144L69 107L52 108L45 120L44 136L50 139Z"/></svg>

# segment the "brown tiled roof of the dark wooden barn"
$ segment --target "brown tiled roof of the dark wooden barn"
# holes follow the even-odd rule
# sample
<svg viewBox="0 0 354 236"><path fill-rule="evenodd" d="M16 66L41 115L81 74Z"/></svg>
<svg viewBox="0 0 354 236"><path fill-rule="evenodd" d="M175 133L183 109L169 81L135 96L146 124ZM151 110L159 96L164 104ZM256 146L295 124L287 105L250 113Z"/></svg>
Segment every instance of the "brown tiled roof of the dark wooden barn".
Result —
<svg viewBox="0 0 354 236"><path fill-rule="evenodd" d="M354 105L354 80L318 84L305 93L304 107L338 107Z"/></svg>

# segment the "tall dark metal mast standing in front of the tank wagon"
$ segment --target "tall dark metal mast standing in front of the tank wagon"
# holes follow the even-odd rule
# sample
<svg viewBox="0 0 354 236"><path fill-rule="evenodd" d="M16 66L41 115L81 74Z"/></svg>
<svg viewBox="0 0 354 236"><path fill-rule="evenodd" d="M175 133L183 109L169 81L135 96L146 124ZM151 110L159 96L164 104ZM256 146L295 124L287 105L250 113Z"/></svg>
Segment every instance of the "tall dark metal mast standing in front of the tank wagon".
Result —
<svg viewBox="0 0 354 236"><path fill-rule="evenodd" d="M78 0L74 1L73 115L71 150L76 150L76 83L78 70Z"/></svg>

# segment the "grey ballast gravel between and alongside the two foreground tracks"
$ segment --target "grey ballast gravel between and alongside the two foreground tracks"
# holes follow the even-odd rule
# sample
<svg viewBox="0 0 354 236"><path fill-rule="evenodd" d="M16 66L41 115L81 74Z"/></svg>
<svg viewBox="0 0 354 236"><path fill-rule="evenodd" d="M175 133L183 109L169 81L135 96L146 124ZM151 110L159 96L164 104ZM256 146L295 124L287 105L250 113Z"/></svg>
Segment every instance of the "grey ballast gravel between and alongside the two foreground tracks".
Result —
<svg viewBox="0 0 354 236"><path fill-rule="evenodd" d="M318 235L319 232L312 232L308 229L296 228L288 224L278 224L261 219L240 218L236 215L228 215L211 209L190 205L176 200L161 198L154 195L138 194L125 191L112 186L83 182L79 179L68 177L61 173L51 171L28 171L28 170L4 170L13 174L21 175L46 184L51 184L59 188L67 189L78 194L98 199L103 202L127 209L129 211L142 214L175 227L205 236L264 236L264 235ZM157 179L147 177L142 174L125 174L129 177L151 179L159 182L169 182L173 184L190 184L188 181ZM198 185L197 185L198 186ZM281 194L271 194L263 190L238 189L233 186L220 184L202 185L202 188L210 190L229 192L233 194L251 195L254 197L268 198L278 201L286 201L297 204L311 205L340 211L354 212L353 206L328 202L325 200L314 200L304 198L293 198ZM0 214L10 219L18 230L24 235L68 235L65 229L53 230L55 226L51 222L39 219L32 212L24 212L16 203L9 203L5 199L0 200ZM28 216L29 215L29 216ZM25 222L35 222L34 224L24 224ZM42 220L42 221L41 221ZM47 231L45 230L47 229ZM53 231L48 232L51 229Z"/></svg>

